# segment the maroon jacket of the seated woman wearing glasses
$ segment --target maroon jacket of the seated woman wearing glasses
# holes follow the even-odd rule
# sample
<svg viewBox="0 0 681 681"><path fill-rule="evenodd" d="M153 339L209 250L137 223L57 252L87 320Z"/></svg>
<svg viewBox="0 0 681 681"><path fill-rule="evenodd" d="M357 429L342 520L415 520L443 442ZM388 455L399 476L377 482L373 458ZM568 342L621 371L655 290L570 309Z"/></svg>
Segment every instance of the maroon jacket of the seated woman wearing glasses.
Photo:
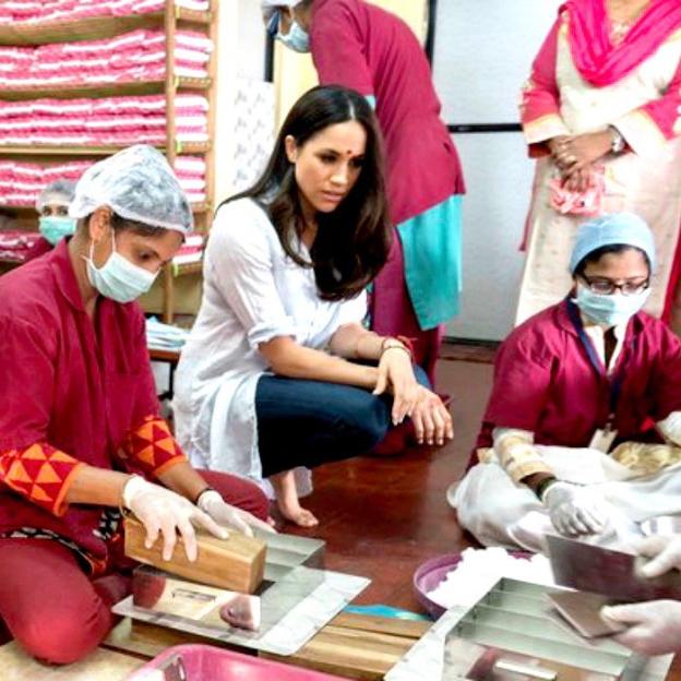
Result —
<svg viewBox="0 0 681 681"><path fill-rule="evenodd" d="M613 375L619 372L618 441L657 439L653 423L681 409L681 340L640 312L629 323ZM562 301L527 320L499 348L477 446L492 445L495 427L531 431L537 444L588 446L606 423L609 402L609 383L589 363Z"/></svg>

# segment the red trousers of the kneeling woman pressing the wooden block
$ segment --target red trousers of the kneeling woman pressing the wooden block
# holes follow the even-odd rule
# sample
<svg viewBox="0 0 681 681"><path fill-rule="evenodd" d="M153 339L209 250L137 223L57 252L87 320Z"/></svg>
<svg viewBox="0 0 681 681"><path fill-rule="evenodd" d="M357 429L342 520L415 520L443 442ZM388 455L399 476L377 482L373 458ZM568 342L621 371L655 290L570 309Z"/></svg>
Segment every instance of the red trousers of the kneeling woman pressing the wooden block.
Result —
<svg viewBox="0 0 681 681"><path fill-rule="evenodd" d="M267 499L255 485L200 473L227 503L266 519ZM73 552L56 541L0 538L0 620L33 657L74 662L101 643L117 621L111 606L130 594L121 563L112 555L108 574L91 582Z"/></svg>

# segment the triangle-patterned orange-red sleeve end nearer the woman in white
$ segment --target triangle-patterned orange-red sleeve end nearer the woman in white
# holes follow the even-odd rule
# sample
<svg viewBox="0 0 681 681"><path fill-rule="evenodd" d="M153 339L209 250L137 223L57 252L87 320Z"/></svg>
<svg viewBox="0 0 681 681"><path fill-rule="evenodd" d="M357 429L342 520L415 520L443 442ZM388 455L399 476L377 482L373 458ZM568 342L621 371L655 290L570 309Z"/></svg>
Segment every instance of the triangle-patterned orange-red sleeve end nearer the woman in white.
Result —
<svg viewBox="0 0 681 681"><path fill-rule="evenodd" d="M131 430L121 449L124 458L155 477L188 461L168 423L155 415L145 417L136 429Z"/></svg>

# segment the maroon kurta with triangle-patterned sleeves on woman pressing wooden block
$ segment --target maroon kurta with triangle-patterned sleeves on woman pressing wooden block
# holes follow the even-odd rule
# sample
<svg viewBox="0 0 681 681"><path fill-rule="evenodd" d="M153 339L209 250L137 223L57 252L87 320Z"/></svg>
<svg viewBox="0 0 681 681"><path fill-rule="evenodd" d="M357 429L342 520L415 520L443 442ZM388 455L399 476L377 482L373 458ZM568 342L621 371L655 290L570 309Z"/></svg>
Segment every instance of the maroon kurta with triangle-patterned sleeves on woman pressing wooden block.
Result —
<svg viewBox="0 0 681 681"><path fill-rule="evenodd" d="M99 298L91 320L62 240L0 278L0 533L50 529L104 557L101 509L63 498L80 463L159 473L153 447L126 461L158 409L140 307ZM165 464L184 461L162 438Z"/></svg>

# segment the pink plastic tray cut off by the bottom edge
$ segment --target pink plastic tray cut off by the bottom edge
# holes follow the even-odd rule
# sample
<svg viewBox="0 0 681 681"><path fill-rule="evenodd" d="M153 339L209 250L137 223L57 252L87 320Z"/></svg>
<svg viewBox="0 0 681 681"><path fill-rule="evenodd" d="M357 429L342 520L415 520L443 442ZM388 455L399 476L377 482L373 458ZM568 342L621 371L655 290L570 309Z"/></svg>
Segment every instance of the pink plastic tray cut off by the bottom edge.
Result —
<svg viewBox="0 0 681 681"><path fill-rule="evenodd" d="M186 677L179 674L177 668L172 668L172 659L177 656L181 657ZM130 674L126 681L164 681L164 676L158 676L164 667L167 681L343 681L339 677L319 671L290 667L215 646L193 644L168 648Z"/></svg>

